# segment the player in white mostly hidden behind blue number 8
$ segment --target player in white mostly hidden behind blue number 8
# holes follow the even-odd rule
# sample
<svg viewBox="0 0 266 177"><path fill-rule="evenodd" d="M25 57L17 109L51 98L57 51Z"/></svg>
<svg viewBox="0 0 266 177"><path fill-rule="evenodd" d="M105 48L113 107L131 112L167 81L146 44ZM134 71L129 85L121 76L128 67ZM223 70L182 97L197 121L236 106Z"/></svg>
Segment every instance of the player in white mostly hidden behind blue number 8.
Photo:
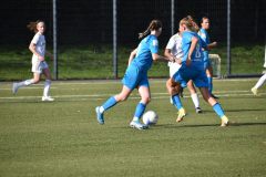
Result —
<svg viewBox="0 0 266 177"><path fill-rule="evenodd" d="M176 33L173 37L171 37L171 39L165 48L164 55L166 58L176 58L176 59L183 58L182 37L180 33ZM168 66L170 66L170 77L172 77L180 70L181 64L177 62L168 62ZM186 85L182 85L182 86L186 86ZM194 103L196 113L202 113L202 110L200 107L198 96L196 93L196 88L192 81L190 81L187 83L187 87L191 92L191 97ZM172 103L172 98L171 98L171 103Z"/></svg>

